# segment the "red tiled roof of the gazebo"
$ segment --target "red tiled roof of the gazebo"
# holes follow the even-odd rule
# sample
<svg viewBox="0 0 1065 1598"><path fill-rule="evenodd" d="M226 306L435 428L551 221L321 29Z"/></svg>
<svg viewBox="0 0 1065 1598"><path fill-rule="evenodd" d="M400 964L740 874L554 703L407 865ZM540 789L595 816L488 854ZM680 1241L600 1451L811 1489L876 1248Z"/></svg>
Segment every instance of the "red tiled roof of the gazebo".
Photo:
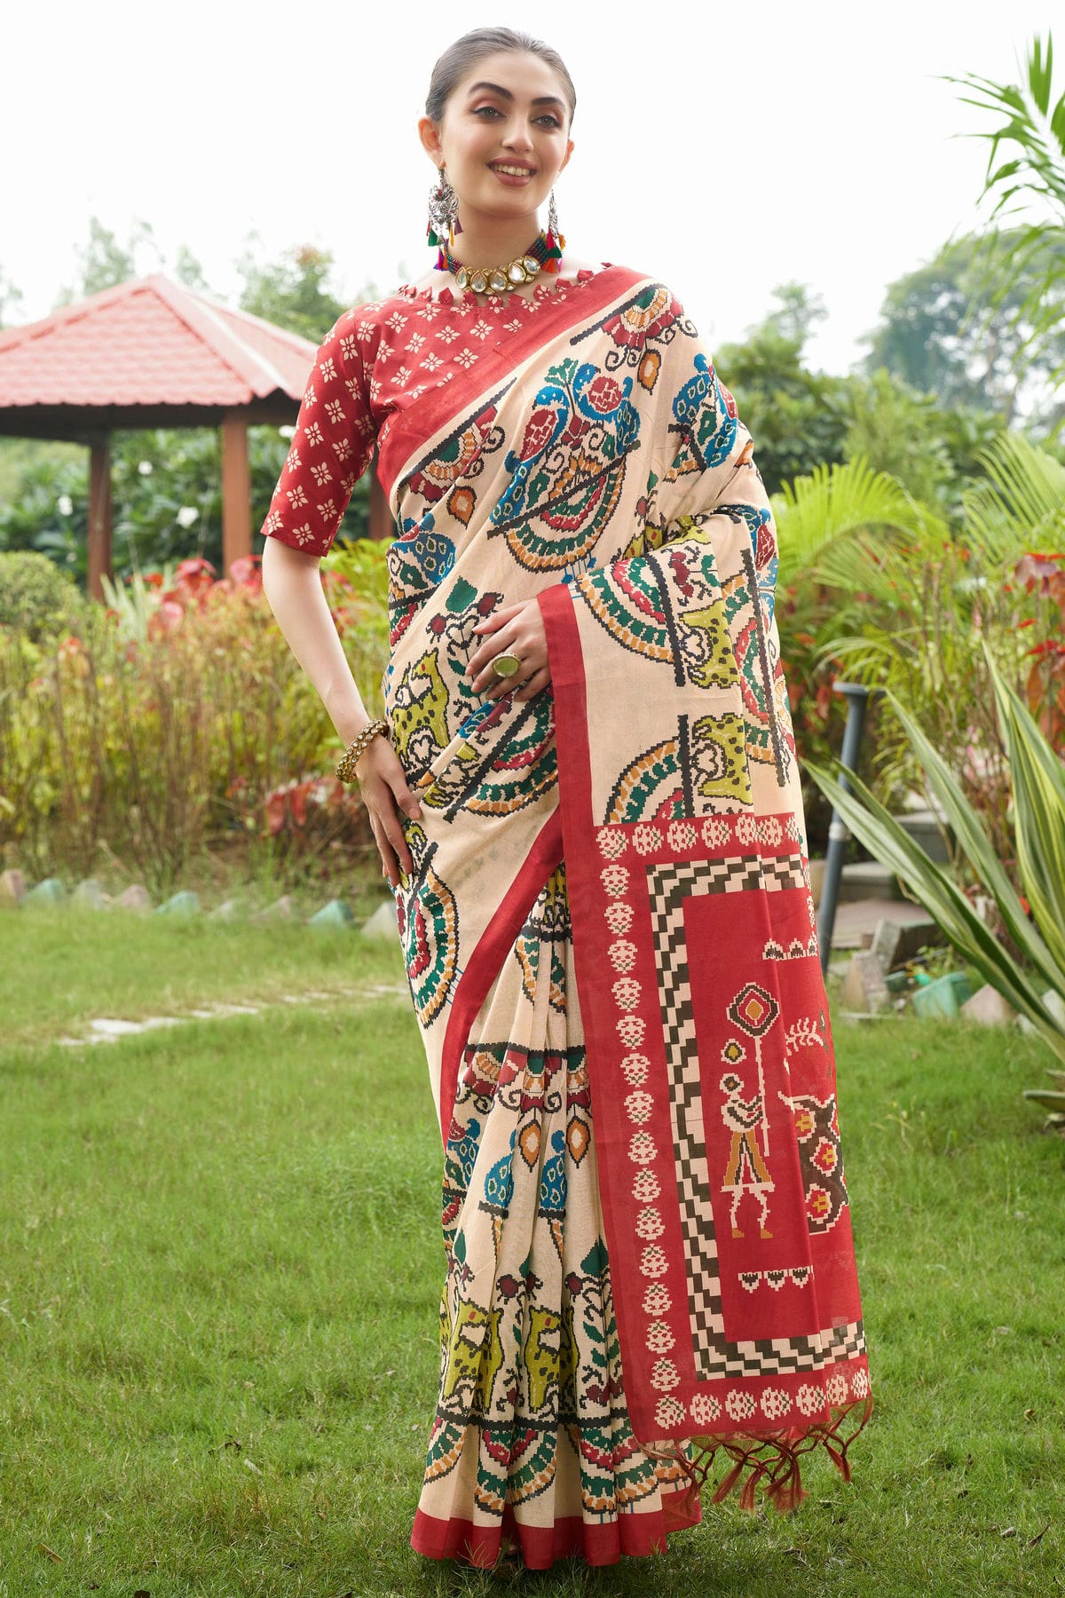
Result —
<svg viewBox="0 0 1065 1598"><path fill-rule="evenodd" d="M8 406L219 406L299 400L315 345L161 273L0 332Z"/></svg>

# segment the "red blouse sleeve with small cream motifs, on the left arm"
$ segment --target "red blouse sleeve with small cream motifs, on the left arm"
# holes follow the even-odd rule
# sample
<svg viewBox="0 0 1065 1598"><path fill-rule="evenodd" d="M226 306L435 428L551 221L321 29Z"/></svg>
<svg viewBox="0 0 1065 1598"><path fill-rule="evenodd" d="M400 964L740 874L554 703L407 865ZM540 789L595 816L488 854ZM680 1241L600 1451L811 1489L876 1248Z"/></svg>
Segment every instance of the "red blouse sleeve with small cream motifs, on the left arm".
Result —
<svg viewBox="0 0 1065 1598"><path fill-rule="evenodd" d="M348 312L323 340L307 380L289 457L262 531L294 550L327 555L374 452L375 428L359 342Z"/></svg>

